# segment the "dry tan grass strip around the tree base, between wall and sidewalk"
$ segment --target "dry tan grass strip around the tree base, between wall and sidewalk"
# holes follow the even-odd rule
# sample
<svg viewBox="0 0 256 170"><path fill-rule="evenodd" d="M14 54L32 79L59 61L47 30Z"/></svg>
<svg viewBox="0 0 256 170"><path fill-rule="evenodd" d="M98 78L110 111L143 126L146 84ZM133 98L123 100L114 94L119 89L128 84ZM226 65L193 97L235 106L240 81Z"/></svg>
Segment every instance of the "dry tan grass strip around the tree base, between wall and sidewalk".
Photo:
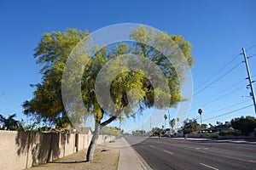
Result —
<svg viewBox="0 0 256 170"><path fill-rule="evenodd" d="M119 162L119 149L97 145L94 161L85 162L86 150L79 151L72 156L66 156L52 163L32 167L30 170L116 170Z"/></svg>

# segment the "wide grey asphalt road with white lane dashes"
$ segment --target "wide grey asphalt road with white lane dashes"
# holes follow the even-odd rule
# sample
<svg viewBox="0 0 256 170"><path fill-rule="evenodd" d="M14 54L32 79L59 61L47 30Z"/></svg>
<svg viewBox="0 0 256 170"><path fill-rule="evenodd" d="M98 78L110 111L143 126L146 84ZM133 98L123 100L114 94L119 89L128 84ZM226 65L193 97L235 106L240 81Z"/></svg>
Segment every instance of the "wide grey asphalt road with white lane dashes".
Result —
<svg viewBox="0 0 256 170"><path fill-rule="evenodd" d="M129 143L137 137L125 138ZM148 138L132 147L155 170L256 169L256 144Z"/></svg>

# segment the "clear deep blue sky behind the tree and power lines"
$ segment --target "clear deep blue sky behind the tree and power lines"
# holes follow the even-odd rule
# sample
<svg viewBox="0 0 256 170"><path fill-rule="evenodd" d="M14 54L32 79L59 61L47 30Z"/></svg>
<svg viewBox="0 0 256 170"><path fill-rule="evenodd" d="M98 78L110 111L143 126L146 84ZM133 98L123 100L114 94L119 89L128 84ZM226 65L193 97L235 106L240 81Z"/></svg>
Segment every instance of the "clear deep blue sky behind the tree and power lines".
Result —
<svg viewBox="0 0 256 170"><path fill-rule="evenodd" d="M256 2L251 0L194 0L194 1L12 1L0 2L0 114L16 113L22 117L20 106L32 98L30 84L40 82L40 67L33 59L33 50L45 32L65 31L67 28L96 31L117 23L140 23L169 34L183 35L194 46L195 66L192 69L194 87L226 65L241 48L256 44ZM256 54L256 47L247 55ZM218 79L242 60L235 59L212 81ZM249 59L256 80L256 56ZM203 109L203 120L235 111L253 102L246 89L247 77L242 63L233 71L195 95L189 118ZM244 80L244 81L243 81ZM236 83L238 82L238 83ZM256 86L256 84L255 84ZM200 90L201 88L198 88ZM224 91L225 88L228 88ZM197 90L197 91L198 91ZM196 92L196 91L195 91ZM221 99L221 95L229 94ZM211 100L213 102L209 103ZM241 103L245 101L244 103ZM247 101L247 102L246 102ZM236 105L241 103L239 105ZM235 105L222 111L218 109ZM237 116L255 116L253 107L205 121L230 121ZM173 116L173 115L172 115Z"/></svg>

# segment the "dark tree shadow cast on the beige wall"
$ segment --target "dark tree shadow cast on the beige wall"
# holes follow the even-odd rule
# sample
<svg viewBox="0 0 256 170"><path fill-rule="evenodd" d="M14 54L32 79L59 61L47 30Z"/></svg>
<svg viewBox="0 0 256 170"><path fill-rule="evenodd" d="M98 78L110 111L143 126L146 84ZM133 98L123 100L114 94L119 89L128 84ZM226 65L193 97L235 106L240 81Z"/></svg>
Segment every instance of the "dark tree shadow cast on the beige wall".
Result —
<svg viewBox="0 0 256 170"><path fill-rule="evenodd" d="M26 159L26 168L44 164L66 156L65 147L70 143L70 134L18 132L15 143L18 156Z"/></svg>

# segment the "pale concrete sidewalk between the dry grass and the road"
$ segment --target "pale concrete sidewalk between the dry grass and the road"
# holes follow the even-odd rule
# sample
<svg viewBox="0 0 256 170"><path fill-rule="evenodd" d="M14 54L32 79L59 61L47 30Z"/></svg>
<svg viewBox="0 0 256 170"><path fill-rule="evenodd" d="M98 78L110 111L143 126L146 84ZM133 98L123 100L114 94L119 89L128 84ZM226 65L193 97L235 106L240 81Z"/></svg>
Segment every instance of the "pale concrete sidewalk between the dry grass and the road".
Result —
<svg viewBox="0 0 256 170"><path fill-rule="evenodd" d="M119 165L118 170L151 170L152 168L148 166L148 163L143 160L143 158L137 154L130 144L121 138L108 146L119 147Z"/></svg>

